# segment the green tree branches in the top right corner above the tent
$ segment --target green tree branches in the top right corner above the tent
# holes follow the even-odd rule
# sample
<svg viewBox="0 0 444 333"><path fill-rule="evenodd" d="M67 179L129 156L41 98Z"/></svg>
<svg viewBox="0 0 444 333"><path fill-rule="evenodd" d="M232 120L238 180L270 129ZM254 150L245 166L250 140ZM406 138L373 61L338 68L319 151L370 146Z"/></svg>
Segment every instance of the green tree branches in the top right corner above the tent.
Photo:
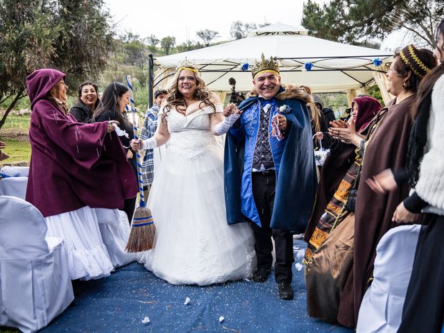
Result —
<svg viewBox="0 0 444 333"><path fill-rule="evenodd" d="M405 29L417 44L434 46L434 30L443 16L442 0L332 0L322 8L308 0L302 25L315 37L348 43L383 40Z"/></svg>

